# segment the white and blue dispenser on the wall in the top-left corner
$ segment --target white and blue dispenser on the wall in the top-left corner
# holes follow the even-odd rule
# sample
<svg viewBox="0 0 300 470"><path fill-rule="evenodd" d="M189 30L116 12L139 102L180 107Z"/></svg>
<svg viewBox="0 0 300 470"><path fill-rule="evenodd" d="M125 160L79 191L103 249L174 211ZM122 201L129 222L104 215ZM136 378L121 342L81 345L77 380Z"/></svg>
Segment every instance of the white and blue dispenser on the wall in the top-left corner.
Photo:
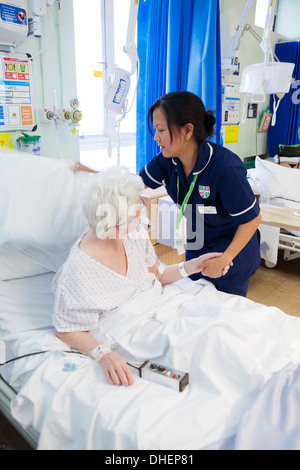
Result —
<svg viewBox="0 0 300 470"><path fill-rule="evenodd" d="M28 35L27 0L0 2L0 44L20 46Z"/></svg>

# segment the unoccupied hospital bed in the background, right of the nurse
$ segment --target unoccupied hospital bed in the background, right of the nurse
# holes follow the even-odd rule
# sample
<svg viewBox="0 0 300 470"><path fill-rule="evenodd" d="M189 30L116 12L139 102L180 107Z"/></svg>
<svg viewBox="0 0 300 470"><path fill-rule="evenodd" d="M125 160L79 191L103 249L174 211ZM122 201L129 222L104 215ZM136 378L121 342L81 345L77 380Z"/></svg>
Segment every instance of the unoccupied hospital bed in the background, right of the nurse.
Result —
<svg viewBox="0 0 300 470"><path fill-rule="evenodd" d="M289 160L290 161L290 160ZM278 250L289 261L300 257L300 171L256 157L249 181L261 193L261 256L275 267Z"/></svg>

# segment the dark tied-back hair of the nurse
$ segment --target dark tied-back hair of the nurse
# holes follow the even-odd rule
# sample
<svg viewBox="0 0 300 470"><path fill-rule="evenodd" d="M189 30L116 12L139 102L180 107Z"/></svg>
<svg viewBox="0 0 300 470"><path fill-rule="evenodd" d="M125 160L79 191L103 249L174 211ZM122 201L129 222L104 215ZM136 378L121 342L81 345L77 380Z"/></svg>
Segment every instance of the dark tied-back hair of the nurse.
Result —
<svg viewBox="0 0 300 470"><path fill-rule="evenodd" d="M153 135L153 113L161 108L166 116L168 129L173 138L173 130L193 124L194 136L198 143L213 135L216 119L211 110L206 111L202 100L188 91L175 91L162 96L153 103L148 112L148 129Z"/></svg>

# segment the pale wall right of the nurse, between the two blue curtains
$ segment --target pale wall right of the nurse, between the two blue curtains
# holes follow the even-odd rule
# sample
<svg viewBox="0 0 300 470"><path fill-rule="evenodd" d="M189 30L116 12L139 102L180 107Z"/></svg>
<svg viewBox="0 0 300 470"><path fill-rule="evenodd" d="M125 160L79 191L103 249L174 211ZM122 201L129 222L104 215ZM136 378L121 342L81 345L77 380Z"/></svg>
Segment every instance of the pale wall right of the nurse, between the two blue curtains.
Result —
<svg viewBox="0 0 300 470"><path fill-rule="evenodd" d="M242 13L246 5L246 0L220 0L220 13L221 17L225 14L225 18L237 18L237 23L231 24L231 27L236 28ZM253 2L250 13L246 20L246 23L249 23L252 28L257 32L257 34L263 36L263 28L255 26L255 8L256 2ZM233 10L233 11L232 11ZM225 26L221 21L221 28L230 27L230 25ZM224 35L222 35L224 37ZM278 40L282 38L277 33L271 34L272 44L275 45ZM225 47L225 44L221 44L222 49ZM260 48L260 43L254 36L249 32L244 32L244 35L241 39L241 47L239 50L239 61L240 61L240 73L239 75L232 75L230 77L230 83L240 84L241 82L241 73L245 65L254 64L263 62L264 56ZM247 106L251 102L251 96L247 95ZM267 146L267 132L258 132L259 123L263 115L264 110L269 106L270 99L266 98L264 103L258 104L257 118L246 119L245 123L242 123L242 114L243 114L243 104L244 104L244 95L241 94L240 102L240 124L238 129L238 142L237 143L225 143L224 146L232 150L234 153L239 155L240 158L244 159L245 157L254 157L255 155L268 155L268 146Z"/></svg>

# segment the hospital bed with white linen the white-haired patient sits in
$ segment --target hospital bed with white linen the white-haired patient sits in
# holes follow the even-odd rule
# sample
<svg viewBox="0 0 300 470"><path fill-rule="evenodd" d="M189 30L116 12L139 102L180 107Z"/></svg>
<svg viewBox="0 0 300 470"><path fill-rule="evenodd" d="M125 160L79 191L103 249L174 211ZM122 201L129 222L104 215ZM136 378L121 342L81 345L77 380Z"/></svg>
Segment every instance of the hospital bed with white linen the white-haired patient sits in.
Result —
<svg viewBox="0 0 300 470"><path fill-rule="evenodd" d="M147 291L115 312L123 329L127 311L135 313L130 331L115 328L119 344L136 361L188 372L189 385L179 392L134 368L132 387L108 384L99 364L70 350L51 323L51 282L86 229L80 191L94 176L29 155L0 155L0 167L0 406L34 448L300 448L292 418L299 400L281 406L298 393L298 318L206 280L182 279L154 299ZM158 336L145 326L149 308ZM262 439L272 406L274 429Z"/></svg>

